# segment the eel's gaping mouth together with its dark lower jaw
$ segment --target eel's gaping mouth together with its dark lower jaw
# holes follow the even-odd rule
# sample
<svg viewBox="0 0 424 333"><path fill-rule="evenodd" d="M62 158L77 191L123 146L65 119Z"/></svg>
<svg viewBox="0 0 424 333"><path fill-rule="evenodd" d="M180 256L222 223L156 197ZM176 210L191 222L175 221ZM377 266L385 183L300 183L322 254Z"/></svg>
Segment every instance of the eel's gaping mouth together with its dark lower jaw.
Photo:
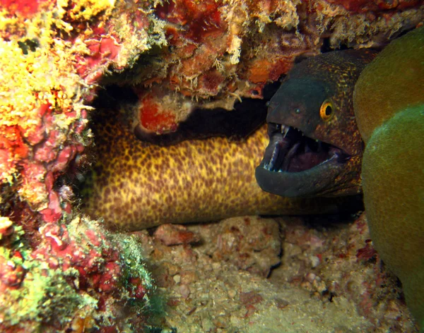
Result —
<svg viewBox="0 0 424 333"><path fill-rule="evenodd" d="M331 195L351 158L341 148L305 136L297 128L268 124L269 145L255 171L266 192L283 197Z"/></svg>

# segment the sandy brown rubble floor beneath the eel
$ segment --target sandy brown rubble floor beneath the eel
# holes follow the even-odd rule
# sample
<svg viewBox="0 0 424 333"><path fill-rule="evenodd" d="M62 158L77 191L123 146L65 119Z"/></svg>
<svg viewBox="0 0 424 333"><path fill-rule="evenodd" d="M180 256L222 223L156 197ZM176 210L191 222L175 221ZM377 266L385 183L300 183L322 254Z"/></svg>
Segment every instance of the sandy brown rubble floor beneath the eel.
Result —
<svg viewBox="0 0 424 333"><path fill-rule="evenodd" d="M274 232L278 224L280 233ZM396 278L379 265L364 215L332 223L328 218L237 217L187 230L201 241L165 246L147 231L137 232L145 255L155 262L152 276L168 296L164 327L177 332L417 332L399 299ZM259 240L266 241L258 252ZM280 249L281 265L269 279L245 265L257 258L269 270L276 262L263 262L262 255Z"/></svg>

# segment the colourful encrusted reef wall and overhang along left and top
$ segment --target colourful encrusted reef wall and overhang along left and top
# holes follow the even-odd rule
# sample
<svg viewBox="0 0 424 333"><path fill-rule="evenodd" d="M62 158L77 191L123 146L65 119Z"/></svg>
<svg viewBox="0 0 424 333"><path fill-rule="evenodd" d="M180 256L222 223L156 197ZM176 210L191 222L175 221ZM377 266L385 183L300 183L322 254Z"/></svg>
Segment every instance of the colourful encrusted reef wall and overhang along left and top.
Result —
<svg viewBox="0 0 424 333"><path fill-rule="evenodd" d="M134 126L175 131L194 107L263 97L297 56L384 44L423 19L419 1L395 2L0 0L0 329L146 323L139 246L73 195L100 87L136 85Z"/></svg>

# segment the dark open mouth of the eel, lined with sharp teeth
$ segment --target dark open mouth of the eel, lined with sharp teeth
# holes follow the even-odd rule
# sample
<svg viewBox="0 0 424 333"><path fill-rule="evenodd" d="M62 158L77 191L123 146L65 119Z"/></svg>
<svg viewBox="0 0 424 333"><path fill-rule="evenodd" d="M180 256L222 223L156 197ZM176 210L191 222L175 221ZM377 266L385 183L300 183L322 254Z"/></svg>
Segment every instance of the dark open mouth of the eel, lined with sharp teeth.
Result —
<svg viewBox="0 0 424 333"><path fill-rule="evenodd" d="M328 162L344 163L349 155L340 148L303 135L297 128L268 124L269 145L263 167L269 171L300 172Z"/></svg>

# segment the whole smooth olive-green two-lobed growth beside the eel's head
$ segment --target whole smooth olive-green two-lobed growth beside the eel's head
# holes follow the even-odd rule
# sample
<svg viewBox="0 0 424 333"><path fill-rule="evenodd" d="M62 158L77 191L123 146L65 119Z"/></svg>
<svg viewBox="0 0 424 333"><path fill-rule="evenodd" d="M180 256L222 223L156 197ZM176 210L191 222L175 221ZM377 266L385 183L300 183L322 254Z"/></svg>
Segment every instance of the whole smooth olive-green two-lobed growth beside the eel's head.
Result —
<svg viewBox="0 0 424 333"><path fill-rule="evenodd" d="M361 73L355 115L375 248L424 332L424 28L391 42Z"/></svg>

